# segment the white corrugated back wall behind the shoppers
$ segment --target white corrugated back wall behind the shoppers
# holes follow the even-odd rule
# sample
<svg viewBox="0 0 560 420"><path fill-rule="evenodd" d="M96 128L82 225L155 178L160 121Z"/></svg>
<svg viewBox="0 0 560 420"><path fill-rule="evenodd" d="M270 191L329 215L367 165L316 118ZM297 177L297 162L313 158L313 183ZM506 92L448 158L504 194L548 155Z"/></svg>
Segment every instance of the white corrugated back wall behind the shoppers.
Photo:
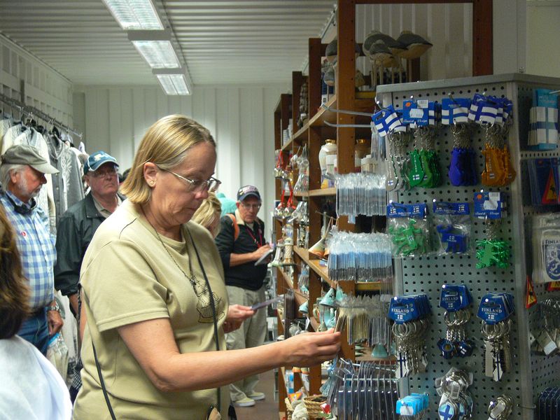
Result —
<svg viewBox="0 0 560 420"><path fill-rule="evenodd" d="M134 151L158 118L171 113L194 118L216 139L221 191L235 198L239 186L253 184L269 209L274 200L273 110L286 90L281 84L195 87L191 96L168 97L160 87L86 86L77 89L77 95L83 92L83 102L76 103L83 109L76 115L84 116L87 151L110 153L123 170L132 165ZM267 218L264 210L260 216Z"/></svg>

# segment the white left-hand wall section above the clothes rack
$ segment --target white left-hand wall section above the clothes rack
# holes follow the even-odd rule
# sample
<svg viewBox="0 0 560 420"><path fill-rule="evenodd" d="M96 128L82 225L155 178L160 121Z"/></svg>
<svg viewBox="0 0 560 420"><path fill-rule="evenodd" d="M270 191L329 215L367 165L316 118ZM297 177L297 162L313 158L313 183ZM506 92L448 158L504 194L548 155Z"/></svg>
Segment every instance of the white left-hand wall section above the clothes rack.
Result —
<svg viewBox="0 0 560 420"><path fill-rule="evenodd" d="M0 93L73 127L72 83L2 35L0 47Z"/></svg>

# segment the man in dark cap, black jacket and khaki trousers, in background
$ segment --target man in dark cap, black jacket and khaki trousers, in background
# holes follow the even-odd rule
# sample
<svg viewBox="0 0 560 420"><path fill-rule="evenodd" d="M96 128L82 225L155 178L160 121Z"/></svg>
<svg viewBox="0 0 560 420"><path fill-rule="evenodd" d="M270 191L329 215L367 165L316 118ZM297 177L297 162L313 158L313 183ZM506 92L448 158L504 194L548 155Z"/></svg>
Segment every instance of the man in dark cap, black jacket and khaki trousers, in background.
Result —
<svg viewBox="0 0 560 420"><path fill-rule="evenodd" d="M255 261L270 251L265 241L265 224L257 217L261 200L258 189L244 186L237 191L237 210L221 218L216 245L222 259L225 285L230 304L251 305L265 300L263 281L267 265ZM228 350L248 349L265 342L267 331L265 310L256 311L241 328L226 335ZM258 375L246 377L230 385L231 400L238 407L251 407L265 394L255 391Z"/></svg>

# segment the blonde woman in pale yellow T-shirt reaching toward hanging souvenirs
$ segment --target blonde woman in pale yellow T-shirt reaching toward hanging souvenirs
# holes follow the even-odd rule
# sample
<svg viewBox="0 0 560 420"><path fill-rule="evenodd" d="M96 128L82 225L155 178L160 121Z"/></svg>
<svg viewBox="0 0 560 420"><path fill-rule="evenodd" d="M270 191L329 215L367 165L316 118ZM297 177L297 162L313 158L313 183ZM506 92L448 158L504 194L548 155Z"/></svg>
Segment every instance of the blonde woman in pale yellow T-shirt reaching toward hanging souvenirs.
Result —
<svg viewBox="0 0 560 420"><path fill-rule="evenodd" d="M220 183L215 165L211 134L184 116L162 118L142 139L123 184L128 200L83 261L87 325L73 419L202 420L212 407L225 418L232 381L339 351L330 331L225 351L221 260L211 234L190 222Z"/></svg>

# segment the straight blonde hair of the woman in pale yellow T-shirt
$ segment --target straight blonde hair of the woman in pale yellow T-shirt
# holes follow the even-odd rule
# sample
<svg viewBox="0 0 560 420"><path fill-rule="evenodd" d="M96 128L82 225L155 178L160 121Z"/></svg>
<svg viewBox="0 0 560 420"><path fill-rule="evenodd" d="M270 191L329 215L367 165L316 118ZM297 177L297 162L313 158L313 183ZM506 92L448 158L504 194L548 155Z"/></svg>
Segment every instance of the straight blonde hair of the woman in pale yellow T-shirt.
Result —
<svg viewBox="0 0 560 420"><path fill-rule="evenodd" d="M144 134L121 193L135 204L148 202L151 188L144 179L144 164L153 162L161 169L173 169L191 147L204 142L216 147L208 129L195 120L178 114L160 118Z"/></svg>

